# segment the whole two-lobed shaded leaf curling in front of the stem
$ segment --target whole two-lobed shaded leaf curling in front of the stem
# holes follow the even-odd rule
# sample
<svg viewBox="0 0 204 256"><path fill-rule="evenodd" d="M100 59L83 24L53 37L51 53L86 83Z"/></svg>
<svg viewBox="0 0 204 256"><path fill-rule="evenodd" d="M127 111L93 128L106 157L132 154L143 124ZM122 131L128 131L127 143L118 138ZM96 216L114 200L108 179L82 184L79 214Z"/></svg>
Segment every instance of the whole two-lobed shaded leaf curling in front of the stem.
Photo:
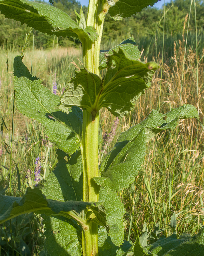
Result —
<svg viewBox="0 0 204 256"><path fill-rule="evenodd" d="M113 65L114 61L114 65ZM96 74L81 69L72 78L68 89L61 97L60 109L79 106L90 112L106 107L118 117L127 115L135 101L150 87L154 62L143 63L131 58L119 48L107 57L107 72L101 81Z"/></svg>

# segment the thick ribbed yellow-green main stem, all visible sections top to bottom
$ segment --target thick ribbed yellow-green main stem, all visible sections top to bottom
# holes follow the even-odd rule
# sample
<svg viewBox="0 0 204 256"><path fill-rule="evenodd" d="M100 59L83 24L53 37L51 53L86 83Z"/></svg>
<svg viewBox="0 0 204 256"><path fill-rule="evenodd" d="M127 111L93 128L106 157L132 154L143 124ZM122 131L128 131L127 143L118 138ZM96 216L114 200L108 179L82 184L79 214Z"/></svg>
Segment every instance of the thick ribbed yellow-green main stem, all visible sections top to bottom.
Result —
<svg viewBox="0 0 204 256"><path fill-rule="evenodd" d="M98 39L92 42L88 37L81 38L83 49L83 67L89 72L98 76L99 72L99 54L100 43L103 31L105 15L108 12L109 5L102 4L98 0L90 0L86 25L95 27L98 33ZM83 200L98 201L99 187L93 181L94 177L99 176L98 171L98 127L99 112L95 110L83 110L82 125L82 163L83 163ZM90 216L90 212L85 210L85 216ZM92 213L90 218L94 217ZM98 256L98 225L96 223L87 223L86 229L82 230L82 251L83 256Z"/></svg>

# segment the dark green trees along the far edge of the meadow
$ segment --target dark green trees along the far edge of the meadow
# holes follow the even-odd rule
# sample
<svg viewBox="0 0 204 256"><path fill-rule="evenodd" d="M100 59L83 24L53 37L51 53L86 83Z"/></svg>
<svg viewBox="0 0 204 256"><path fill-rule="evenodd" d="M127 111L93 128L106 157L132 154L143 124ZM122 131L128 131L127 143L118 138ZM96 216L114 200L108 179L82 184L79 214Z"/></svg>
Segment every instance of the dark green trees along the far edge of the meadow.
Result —
<svg viewBox="0 0 204 256"><path fill-rule="evenodd" d="M44 1L37 1L45 4ZM190 10L190 0L175 0L166 4L165 7L165 35L172 38L181 36L184 30L185 19ZM56 0L53 6L66 12L72 19L76 19L74 10L80 12L81 4L75 0ZM87 7L83 6L83 11L86 16ZM196 20L197 29L203 30L204 28L204 2L201 0L196 1ZM141 13L125 18L122 21L113 21L110 15L106 16L104 25L104 32L102 37L102 44L108 45L109 42L116 40L122 41L126 37L134 36L136 41L141 38L151 38L155 34L159 37L163 35L163 16L164 8L157 9L148 7L142 10ZM195 33L195 11L194 5L190 13L189 29ZM186 24L187 27L187 24ZM5 18L0 14L0 47L5 47L6 42L8 47L21 47L24 44L24 38L28 33L29 28L27 25L21 25L20 22ZM111 32L110 32L111 31ZM39 31L33 30L34 47L35 48L50 48L56 42L59 46L79 46L80 41L78 38L56 38L54 36L42 35ZM33 40L29 44L32 45Z"/></svg>

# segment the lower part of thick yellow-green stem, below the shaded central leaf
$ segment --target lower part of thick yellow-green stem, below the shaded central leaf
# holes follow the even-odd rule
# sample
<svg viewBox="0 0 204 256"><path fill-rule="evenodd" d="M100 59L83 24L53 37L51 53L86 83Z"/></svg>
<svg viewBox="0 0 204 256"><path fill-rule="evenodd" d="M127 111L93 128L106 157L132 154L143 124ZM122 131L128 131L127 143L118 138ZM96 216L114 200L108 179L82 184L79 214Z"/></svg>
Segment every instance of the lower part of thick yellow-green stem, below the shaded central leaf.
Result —
<svg viewBox="0 0 204 256"><path fill-rule="evenodd" d="M99 113L83 111L82 126L82 163L83 163L83 200L98 201L99 189L93 177L98 177L98 125ZM82 229L83 256L98 255L98 225L87 224Z"/></svg>

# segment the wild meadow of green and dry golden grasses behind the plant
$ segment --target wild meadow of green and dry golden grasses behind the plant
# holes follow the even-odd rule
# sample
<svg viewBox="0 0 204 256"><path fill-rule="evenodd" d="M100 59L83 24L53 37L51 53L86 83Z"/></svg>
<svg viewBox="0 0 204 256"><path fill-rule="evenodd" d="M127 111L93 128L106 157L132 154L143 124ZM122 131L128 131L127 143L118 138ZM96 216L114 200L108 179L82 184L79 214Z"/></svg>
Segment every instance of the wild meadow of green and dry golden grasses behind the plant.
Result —
<svg viewBox="0 0 204 256"><path fill-rule="evenodd" d="M190 1L175 1L175 3L189 3ZM203 4L198 2L198 10L202 10ZM63 5L63 1L58 1L58 8ZM149 9L143 10L139 17L134 16L120 26L128 26L131 22L131 29L135 26L143 27L144 20L149 19L153 14L157 16L154 24L143 36L138 39L133 30L122 31L120 35L117 29L110 26L113 35L104 32L103 49L111 48L120 42L124 37L135 36L139 50L142 51L141 60L147 62L154 60L161 69L155 72L151 89L147 90L139 100L136 101L135 109L129 116L117 119L107 109L100 111L101 135L104 142L101 144L101 154L98 156L99 162L109 152L117 140L117 136L130 126L143 120L152 109L157 109L162 113L168 112L171 108L177 108L183 104L192 104L199 110L199 121L197 119L185 119L179 122L175 131L165 131L152 139L147 146L147 154L141 174L128 189L123 189L120 198L125 204L125 239L135 240L136 236L147 231L150 240L155 240L162 232L169 235L171 229L169 223L173 212L177 214L177 232L195 234L204 225L204 45L202 40L202 24L200 17L198 21L198 56L196 56L195 24L193 22L193 10L190 23L190 34L188 35L187 50L184 53L186 44L186 31L189 13L189 5L171 7L166 6L167 16L165 26L164 58L162 66L162 34L163 10ZM182 8L182 12L179 8ZM200 8L200 9L199 9ZM158 13L160 15L158 16ZM199 12L198 12L199 13ZM172 19L172 15L176 18ZM71 16L71 15L70 15ZM1 26L5 20L0 17ZM109 19L109 18L107 18ZM136 21L135 21L136 20ZM138 22L139 20L139 22ZM176 28L173 20L176 22ZM172 24L170 23L172 22ZM15 23L12 21L12 23ZM16 24L16 23L15 23ZM117 22L114 23L117 27ZM18 25L19 26L19 25ZM172 29L171 29L172 28ZM9 145L12 141L12 196L22 196L27 187L35 187L36 179L36 158L40 158L41 177L43 180L47 173L51 172L57 161L55 157L56 147L48 141L44 127L36 121L29 120L20 114L14 106L14 133L11 135L12 112L13 112L13 60L16 55L21 54L21 44L24 40L27 27L21 28L24 33L18 40L20 43L1 41L0 51L0 113L1 113L1 135L0 143L0 191L4 193L7 189L9 177ZM140 28L138 28L139 30ZM175 31L174 31L175 29ZM137 30L135 30L137 31ZM152 32L153 31L153 32ZM36 39L34 32L30 36L30 46L25 51L24 64L31 70L32 75L40 77L43 84L53 91L56 85L56 93L61 95L68 81L74 76L74 71L82 67L82 49L80 44L74 39L66 41L60 45L60 39L48 38L45 45L41 40L43 36ZM125 34L128 33L128 34ZM110 36L110 37L109 37ZM6 38L6 37L5 37ZM110 39L112 38L112 39ZM33 45L32 45L33 43ZM75 47L74 47L74 46ZM77 45L77 46L76 46ZM43 47L39 47L43 46ZM49 48L47 48L47 46ZM64 47L66 46L66 47ZM47 48L47 49L46 49ZM144 49L144 51L143 51ZM199 60L199 63L197 64ZM184 66L184 72L183 72ZM54 87L55 90L55 87ZM161 104L159 95L161 94ZM110 126L110 124L112 124ZM18 172L20 177L18 177ZM43 177L44 176L44 177ZM41 181L38 185L42 188ZM25 243L32 251L32 255L39 255L43 249L43 226L39 216L27 214L18 217L16 226L9 227L9 222L1 225L0 248L1 255L10 255L12 248L11 233L16 239L15 243ZM22 226L21 223L24 223ZM130 227L131 223L131 227ZM154 229L155 227L155 229ZM142 232L143 231L143 232ZM20 235L21 234L21 235ZM16 245L14 244L14 247Z"/></svg>

